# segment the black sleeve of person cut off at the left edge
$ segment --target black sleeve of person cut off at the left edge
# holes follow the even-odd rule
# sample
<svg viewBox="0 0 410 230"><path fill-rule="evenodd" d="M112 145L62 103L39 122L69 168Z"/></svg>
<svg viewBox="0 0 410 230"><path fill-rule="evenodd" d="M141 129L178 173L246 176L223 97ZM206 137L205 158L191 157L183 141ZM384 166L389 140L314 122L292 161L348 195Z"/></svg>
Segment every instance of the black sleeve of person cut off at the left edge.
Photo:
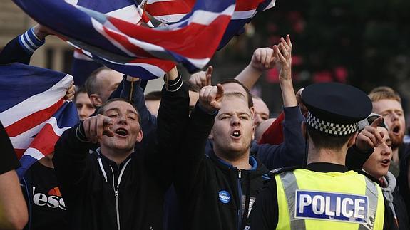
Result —
<svg viewBox="0 0 410 230"><path fill-rule="evenodd" d="M0 122L0 174L20 167L20 162L16 157L10 138Z"/></svg>

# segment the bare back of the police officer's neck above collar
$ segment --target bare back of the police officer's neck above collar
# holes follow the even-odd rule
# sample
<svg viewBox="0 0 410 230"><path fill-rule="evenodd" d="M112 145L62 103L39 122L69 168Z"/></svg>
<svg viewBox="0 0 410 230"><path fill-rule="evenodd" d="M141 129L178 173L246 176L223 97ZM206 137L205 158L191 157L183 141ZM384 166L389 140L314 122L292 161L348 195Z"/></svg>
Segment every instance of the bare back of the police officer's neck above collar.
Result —
<svg viewBox="0 0 410 230"><path fill-rule="evenodd" d="M309 145L307 164L310 163L332 163L344 165L346 162L347 148L342 147L339 150L316 148Z"/></svg>

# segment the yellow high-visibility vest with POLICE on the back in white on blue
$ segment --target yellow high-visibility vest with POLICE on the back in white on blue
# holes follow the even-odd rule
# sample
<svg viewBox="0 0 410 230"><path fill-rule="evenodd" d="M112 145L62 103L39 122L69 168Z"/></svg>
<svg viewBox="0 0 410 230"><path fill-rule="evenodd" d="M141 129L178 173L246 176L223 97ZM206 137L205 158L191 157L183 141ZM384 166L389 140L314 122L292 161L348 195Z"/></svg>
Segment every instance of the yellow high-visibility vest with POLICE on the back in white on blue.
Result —
<svg viewBox="0 0 410 230"><path fill-rule="evenodd" d="M277 229L383 229L383 194L362 174L296 169L275 180Z"/></svg>

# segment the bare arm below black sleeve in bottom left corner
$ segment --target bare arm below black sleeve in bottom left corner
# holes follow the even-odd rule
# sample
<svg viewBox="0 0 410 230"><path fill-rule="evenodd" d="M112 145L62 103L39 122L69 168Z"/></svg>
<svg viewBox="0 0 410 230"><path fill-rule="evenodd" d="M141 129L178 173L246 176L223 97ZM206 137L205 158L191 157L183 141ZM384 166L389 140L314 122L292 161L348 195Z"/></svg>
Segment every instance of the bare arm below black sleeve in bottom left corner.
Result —
<svg viewBox="0 0 410 230"><path fill-rule="evenodd" d="M0 174L0 229L23 229L28 219L16 171Z"/></svg>

